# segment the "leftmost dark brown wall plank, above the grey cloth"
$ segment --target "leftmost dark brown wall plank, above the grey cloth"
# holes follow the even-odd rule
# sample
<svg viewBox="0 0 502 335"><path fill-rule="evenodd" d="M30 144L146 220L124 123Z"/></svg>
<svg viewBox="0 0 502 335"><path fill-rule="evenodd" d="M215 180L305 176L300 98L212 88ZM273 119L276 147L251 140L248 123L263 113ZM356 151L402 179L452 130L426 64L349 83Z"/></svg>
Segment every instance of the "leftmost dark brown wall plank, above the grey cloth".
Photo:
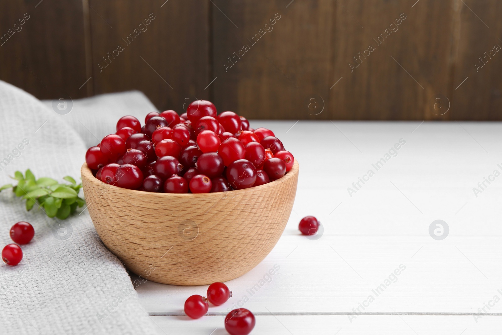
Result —
<svg viewBox="0 0 502 335"><path fill-rule="evenodd" d="M81 0L3 1L0 34L0 79L41 99L87 96Z"/></svg>

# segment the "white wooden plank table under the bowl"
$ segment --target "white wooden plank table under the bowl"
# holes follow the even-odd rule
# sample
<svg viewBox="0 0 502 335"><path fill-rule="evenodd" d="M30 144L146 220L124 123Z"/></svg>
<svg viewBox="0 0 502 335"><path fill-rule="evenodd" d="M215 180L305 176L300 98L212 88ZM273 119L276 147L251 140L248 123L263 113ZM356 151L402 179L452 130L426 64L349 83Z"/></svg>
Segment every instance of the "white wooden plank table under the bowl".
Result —
<svg viewBox="0 0 502 335"><path fill-rule="evenodd" d="M237 306L255 313L255 334L500 333L502 176L484 190L478 182L502 173L502 124L419 124L253 121L300 164L283 236L260 265L226 283L233 297L208 315L183 313L185 299L207 286L150 281L137 287L144 310L169 334L226 334L223 319ZM376 170L400 139L397 156ZM306 215L322 222L317 240L298 231ZM429 235L437 219L449 227L443 240Z"/></svg>

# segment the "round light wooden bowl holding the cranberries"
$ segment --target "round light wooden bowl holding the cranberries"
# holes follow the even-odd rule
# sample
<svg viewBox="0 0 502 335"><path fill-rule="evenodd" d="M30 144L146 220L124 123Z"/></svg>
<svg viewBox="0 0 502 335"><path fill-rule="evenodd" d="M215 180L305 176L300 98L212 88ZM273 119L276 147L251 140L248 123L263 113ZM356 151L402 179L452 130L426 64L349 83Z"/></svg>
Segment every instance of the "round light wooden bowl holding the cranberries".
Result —
<svg viewBox="0 0 502 335"><path fill-rule="evenodd" d="M101 241L128 269L172 285L206 285L257 266L286 227L298 163L271 183L217 193L171 194L120 188L84 163L87 208Z"/></svg>

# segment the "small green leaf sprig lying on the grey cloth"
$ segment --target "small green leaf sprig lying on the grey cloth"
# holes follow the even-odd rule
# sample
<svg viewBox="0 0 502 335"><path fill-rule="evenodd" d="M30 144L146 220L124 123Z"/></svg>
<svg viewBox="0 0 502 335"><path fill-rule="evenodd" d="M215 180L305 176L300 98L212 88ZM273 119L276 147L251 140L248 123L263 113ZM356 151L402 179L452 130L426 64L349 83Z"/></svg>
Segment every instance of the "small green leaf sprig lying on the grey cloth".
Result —
<svg viewBox="0 0 502 335"><path fill-rule="evenodd" d="M17 180L18 184L4 185L0 187L0 191L12 188L16 196L26 199L26 210L31 210L38 202L39 207L45 209L47 216L65 219L74 213L77 207L85 204L85 200L78 196L82 183L77 185L75 179L70 176L63 178L69 184L60 184L48 177L36 179L28 169L24 175L21 171L16 171L11 178Z"/></svg>

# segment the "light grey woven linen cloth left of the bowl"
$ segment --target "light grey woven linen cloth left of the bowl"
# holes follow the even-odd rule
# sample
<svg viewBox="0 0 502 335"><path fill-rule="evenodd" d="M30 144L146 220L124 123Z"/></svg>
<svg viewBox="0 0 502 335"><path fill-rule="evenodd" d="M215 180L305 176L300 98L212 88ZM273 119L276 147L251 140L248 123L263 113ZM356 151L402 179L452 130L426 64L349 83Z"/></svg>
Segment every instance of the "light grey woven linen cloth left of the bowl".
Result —
<svg viewBox="0 0 502 335"><path fill-rule="evenodd" d="M47 107L50 102L44 104L0 81L1 184L12 183L9 176L27 168L37 178L62 182L70 175L79 180L87 147L113 133L120 116L130 108L138 116L155 110L139 92L73 103L69 114L59 115ZM21 263L0 264L1 334L158 333L126 269L102 244L87 210L77 210L66 220L49 218L37 205L27 212L24 200L4 190L0 213L1 248L13 243L9 230L16 222L28 221L35 228L34 239L21 246Z"/></svg>

